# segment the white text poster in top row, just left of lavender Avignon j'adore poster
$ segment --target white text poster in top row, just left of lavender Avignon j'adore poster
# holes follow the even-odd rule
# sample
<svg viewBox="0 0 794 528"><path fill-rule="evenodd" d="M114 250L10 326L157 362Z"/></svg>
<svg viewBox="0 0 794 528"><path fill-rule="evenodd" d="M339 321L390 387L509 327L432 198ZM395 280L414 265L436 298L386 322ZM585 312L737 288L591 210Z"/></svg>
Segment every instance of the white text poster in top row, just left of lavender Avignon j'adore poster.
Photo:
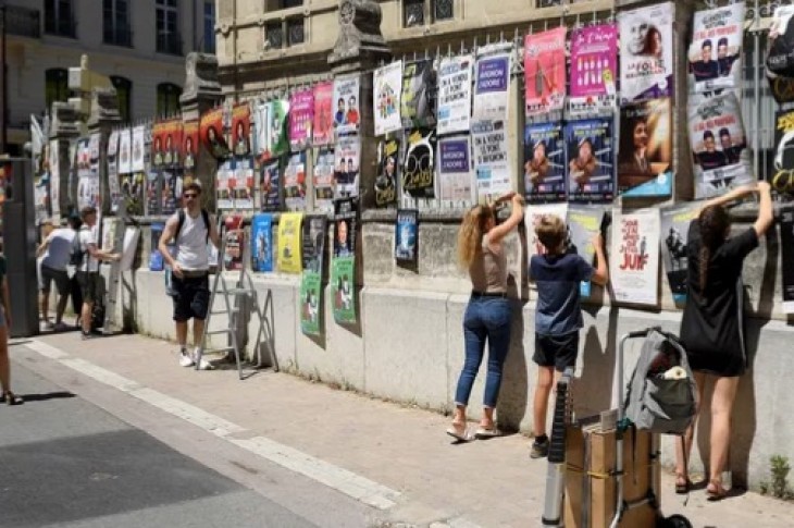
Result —
<svg viewBox="0 0 794 528"><path fill-rule="evenodd" d="M438 135L468 132L474 58L447 57L438 69Z"/></svg>

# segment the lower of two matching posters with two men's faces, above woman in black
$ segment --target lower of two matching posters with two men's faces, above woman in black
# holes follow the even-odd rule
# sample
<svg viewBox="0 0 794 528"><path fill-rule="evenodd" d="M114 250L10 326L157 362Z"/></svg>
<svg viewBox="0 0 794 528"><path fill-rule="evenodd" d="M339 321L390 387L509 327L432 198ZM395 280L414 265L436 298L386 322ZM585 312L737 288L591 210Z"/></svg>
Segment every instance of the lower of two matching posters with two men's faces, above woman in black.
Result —
<svg viewBox="0 0 794 528"><path fill-rule="evenodd" d="M721 195L755 181L742 109L733 91L710 98L690 97L688 116L696 198Z"/></svg>

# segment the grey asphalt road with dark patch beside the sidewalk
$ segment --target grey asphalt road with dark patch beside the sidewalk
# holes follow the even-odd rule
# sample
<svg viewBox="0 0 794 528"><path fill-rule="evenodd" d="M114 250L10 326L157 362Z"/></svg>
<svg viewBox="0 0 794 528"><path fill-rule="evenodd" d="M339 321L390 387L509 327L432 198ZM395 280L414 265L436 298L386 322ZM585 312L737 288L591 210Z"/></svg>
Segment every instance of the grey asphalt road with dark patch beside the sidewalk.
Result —
<svg viewBox="0 0 794 528"><path fill-rule="evenodd" d="M12 367L14 388L26 403L0 405L0 526L4 528L367 524L360 508L350 507L346 498L314 490L282 468L247 467L235 458L239 454L224 452L228 447L213 451L212 439L202 438L201 432L179 434L178 428L190 426L154 416L156 409L124 410L133 404L101 388L86 386L102 407L121 410L111 414L75 394L85 382L72 374L59 384L46 369L38 371L37 365L14 363ZM114 416L134 417L141 412L152 416L138 421L176 434L181 450ZM195 456L184 454L191 451ZM235 480L209 466L238 467L244 477ZM235 471L227 472L234 477ZM262 480L270 488L257 484ZM346 514L328 515L330 509Z"/></svg>

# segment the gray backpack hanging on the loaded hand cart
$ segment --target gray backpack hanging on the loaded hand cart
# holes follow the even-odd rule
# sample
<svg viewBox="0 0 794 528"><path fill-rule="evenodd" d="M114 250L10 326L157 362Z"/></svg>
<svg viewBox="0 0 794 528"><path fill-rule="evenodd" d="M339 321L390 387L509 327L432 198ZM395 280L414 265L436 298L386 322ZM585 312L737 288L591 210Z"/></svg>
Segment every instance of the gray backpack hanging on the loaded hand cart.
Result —
<svg viewBox="0 0 794 528"><path fill-rule="evenodd" d="M665 379L663 373L673 367L683 369L685 378ZM629 382L625 417L637 429L683 434L695 417L695 391L686 352L678 337L650 330Z"/></svg>

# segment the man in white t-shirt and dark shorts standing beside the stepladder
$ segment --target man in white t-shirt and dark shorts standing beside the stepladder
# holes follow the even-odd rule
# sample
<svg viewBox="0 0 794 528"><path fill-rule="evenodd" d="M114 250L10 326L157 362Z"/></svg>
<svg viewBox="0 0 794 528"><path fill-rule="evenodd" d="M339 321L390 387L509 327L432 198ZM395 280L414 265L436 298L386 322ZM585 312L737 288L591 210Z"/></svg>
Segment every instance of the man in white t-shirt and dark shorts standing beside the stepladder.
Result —
<svg viewBox="0 0 794 528"><path fill-rule="evenodd" d="M193 181L183 188L184 207L176 211L160 236L158 249L173 273L171 292L174 299L174 322L179 342L179 365L191 367L201 346L204 319L210 304L209 247L211 241L220 246L218 228L209 212L200 206L201 185ZM169 243L175 243L175 255L169 250ZM193 342L195 352L187 351L187 322L193 319ZM209 361L201 358L199 368L208 370Z"/></svg>

